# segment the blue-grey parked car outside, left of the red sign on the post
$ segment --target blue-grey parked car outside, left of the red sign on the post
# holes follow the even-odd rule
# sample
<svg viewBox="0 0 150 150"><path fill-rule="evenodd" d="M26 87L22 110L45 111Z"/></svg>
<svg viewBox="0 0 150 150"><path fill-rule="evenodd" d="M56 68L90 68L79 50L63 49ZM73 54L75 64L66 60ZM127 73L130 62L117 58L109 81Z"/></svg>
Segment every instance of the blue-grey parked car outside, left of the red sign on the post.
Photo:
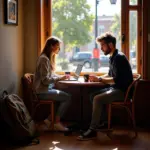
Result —
<svg viewBox="0 0 150 150"><path fill-rule="evenodd" d="M92 66L92 52L84 51L77 52L70 59L70 63L73 65L83 64L85 68L91 68Z"/></svg>

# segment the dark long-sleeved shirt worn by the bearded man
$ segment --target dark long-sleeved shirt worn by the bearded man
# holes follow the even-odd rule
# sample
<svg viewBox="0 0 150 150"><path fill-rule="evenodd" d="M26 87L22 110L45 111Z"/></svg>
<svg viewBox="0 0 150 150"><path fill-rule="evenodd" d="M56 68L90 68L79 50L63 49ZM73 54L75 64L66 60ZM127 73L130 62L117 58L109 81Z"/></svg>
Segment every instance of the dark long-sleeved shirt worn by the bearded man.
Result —
<svg viewBox="0 0 150 150"><path fill-rule="evenodd" d="M114 88L126 92L133 81L132 69L126 56L116 49L109 61L109 76L113 77Z"/></svg>

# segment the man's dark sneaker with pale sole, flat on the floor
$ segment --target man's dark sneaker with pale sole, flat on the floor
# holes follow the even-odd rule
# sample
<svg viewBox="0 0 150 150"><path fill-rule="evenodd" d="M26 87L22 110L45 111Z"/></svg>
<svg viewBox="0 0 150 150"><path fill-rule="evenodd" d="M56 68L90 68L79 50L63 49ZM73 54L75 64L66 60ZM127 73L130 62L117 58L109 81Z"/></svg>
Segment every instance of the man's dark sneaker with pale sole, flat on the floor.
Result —
<svg viewBox="0 0 150 150"><path fill-rule="evenodd" d="M91 129L88 129L85 133L77 137L77 140L86 141L92 140L97 137L97 132Z"/></svg>

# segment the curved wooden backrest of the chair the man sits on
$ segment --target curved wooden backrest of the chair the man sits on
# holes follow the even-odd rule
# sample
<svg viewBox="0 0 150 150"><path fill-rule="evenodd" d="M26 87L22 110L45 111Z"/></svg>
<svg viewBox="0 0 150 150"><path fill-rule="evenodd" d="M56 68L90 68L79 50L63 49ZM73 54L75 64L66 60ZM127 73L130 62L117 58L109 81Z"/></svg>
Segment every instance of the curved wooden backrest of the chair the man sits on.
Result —
<svg viewBox="0 0 150 150"><path fill-rule="evenodd" d="M128 89L127 89L127 92L126 92L126 95L125 95L125 100L124 100L124 103L127 103L127 102L129 102L129 101L131 101L132 100L132 102L133 102L133 99L132 99L132 97L133 97L133 95L134 95L134 93L135 93L135 86L136 86L136 84L138 83L138 81L141 79L141 75L140 74L134 74L133 75L133 82L130 84L130 86L128 87ZM132 90L133 90L133 94L132 94L132 96L130 96L130 93L132 92Z"/></svg>

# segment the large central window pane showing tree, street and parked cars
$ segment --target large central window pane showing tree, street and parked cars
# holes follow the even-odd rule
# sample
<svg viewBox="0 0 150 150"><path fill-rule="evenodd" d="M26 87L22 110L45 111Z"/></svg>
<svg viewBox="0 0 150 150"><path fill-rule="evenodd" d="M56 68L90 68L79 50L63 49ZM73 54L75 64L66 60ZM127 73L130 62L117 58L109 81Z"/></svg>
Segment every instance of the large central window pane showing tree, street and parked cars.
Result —
<svg viewBox="0 0 150 150"><path fill-rule="evenodd" d="M84 65L82 72L108 71L109 56L104 56L95 45L95 31L97 35L111 31L117 38L117 48L121 49L121 0L113 5L110 0L99 0L97 30L95 10L95 0L53 0L52 34L63 41L56 58L57 71L75 71L77 64ZM98 58L95 61L96 47Z"/></svg>

